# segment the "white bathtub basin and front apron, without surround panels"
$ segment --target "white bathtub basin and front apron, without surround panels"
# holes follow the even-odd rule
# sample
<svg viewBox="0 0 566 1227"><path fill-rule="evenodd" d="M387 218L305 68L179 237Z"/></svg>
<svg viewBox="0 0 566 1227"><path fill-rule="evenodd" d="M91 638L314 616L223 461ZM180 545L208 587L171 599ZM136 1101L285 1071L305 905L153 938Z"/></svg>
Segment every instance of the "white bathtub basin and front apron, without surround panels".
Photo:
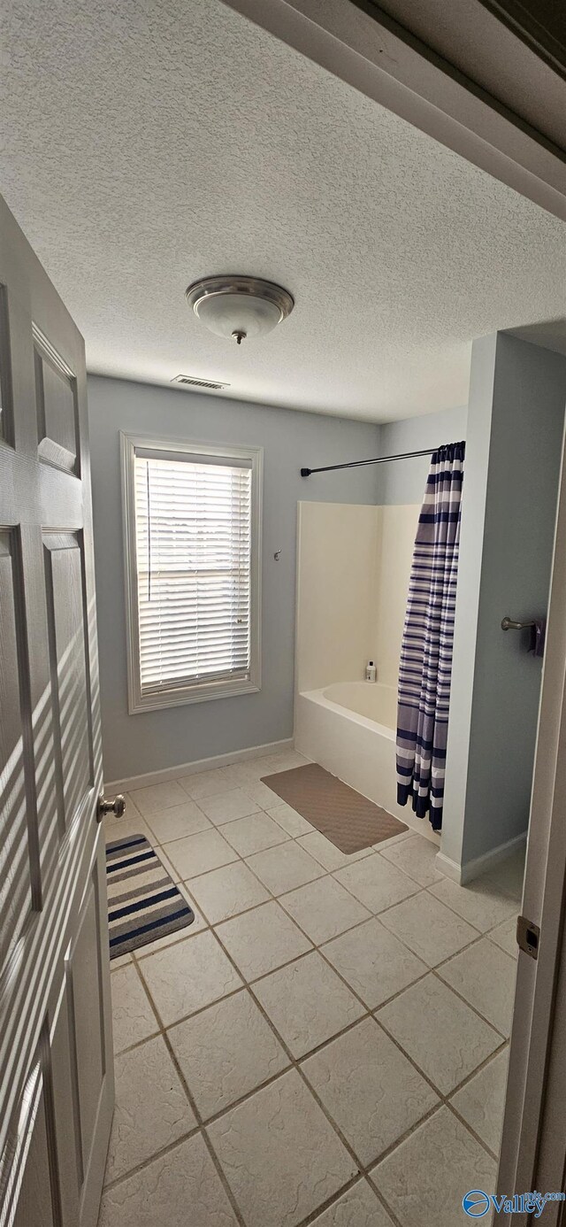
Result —
<svg viewBox="0 0 566 1227"><path fill-rule="evenodd" d="M397 691L380 682L333 682L296 696L295 748L439 843L428 821L397 805Z"/></svg>

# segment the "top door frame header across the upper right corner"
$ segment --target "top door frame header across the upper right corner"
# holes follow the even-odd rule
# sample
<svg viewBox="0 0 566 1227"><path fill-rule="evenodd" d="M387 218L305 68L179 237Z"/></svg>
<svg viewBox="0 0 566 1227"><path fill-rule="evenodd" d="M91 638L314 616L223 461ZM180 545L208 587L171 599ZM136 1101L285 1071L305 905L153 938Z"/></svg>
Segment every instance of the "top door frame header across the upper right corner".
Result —
<svg viewBox="0 0 566 1227"><path fill-rule="evenodd" d="M436 54L375 0L223 0L230 9L345 81L368 98L406 119L566 221L565 151L481 88L455 64ZM424 0L419 0L425 9ZM397 4L398 7L398 4ZM410 9L410 4L408 5ZM477 42L492 38L494 16L480 0L468 0L463 17ZM434 11L429 22L434 21ZM486 22L489 34L486 29ZM450 25L450 22L448 22ZM508 29L501 40L508 53ZM456 34L455 34L456 37ZM512 44L511 44L512 45ZM524 44L517 38L524 53ZM462 50L462 45L459 44ZM523 59L515 64L519 76ZM550 70L529 56L539 92ZM560 79L559 79L560 80Z"/></svg>

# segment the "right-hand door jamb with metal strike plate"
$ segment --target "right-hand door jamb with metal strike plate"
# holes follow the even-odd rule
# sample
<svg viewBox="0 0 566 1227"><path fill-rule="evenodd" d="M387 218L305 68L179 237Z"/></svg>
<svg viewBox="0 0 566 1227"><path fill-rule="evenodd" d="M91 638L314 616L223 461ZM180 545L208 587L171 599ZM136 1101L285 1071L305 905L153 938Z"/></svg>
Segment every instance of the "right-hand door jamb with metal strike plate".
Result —
<svg viewBox="0 0 566 1227"><path fill-rule="evenodd" d="M522 914L539 925L538 958L518 952L500 1194L561 1191L566 1140L566 466L559 485L556 531L539 726L533 775ZM549 1204L546 1227L561 1222ZM526 1227L528 1214L497 1217Z"/></svg>

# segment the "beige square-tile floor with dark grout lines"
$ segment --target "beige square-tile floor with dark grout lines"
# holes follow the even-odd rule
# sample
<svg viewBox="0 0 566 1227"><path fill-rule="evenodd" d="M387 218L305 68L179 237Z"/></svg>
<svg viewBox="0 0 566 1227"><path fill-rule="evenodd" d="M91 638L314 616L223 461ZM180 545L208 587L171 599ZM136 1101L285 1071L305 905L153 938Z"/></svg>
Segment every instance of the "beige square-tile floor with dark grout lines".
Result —
<svg viewBox="0 0 566 1227"><path fill-rule="evenodd" d="M456 1227L494 1185L519 858L469 888L402 836L344 856L260 783L130 794L195 909L113 963L99 1227Z"/></svg>

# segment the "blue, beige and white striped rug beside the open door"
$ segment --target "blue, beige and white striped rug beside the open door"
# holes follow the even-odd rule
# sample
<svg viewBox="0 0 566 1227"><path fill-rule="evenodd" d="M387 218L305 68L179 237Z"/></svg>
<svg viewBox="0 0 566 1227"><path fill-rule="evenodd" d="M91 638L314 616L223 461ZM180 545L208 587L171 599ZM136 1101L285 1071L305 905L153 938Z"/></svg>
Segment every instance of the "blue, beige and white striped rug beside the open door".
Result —
<svg viewBox="0 0 566 1227"><path fill-rule="evenodd" d="M110 958L192 924L195 913L145 836L107 844Z"/></svg>

